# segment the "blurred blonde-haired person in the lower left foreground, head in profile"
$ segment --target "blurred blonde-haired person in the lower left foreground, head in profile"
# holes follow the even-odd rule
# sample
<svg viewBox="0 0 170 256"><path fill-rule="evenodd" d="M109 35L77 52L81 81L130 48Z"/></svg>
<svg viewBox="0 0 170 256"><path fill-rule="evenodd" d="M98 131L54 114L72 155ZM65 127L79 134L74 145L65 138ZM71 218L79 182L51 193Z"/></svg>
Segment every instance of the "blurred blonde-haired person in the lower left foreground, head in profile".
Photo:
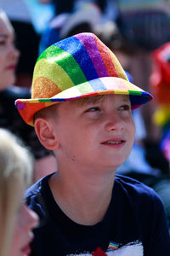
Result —
<svg viewBox="0 0 170 256"><path fill-rule="evenodd" d="M31 253L32 229L37 213L23 202L31 184L32 157L11 132L0 128L0 255L26 256Z"/></svg>

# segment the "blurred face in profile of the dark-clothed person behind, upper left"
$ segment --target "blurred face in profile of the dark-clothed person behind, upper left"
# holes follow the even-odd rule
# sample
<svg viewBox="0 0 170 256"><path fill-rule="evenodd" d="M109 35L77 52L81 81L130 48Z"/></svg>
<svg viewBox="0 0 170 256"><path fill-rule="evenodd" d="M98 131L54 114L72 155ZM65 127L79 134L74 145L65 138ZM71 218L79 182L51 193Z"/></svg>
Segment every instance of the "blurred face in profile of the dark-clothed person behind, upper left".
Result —
<svg viewBox="0 0 170 256"><path fill-rule="evenodd" d="M14 84L19 50L14 47L14 29L0 11L0 90Z"/></svg>

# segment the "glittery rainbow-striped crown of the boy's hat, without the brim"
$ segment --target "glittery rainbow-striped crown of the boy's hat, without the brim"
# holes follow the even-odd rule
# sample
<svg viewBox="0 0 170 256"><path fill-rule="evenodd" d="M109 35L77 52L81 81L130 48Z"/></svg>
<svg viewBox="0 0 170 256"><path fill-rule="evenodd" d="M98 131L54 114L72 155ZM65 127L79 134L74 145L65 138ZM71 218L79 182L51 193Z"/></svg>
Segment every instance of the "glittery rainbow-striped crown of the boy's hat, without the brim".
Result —
<svg viewBox="0 0 170 256"><path fill-rule="evenodd" d="M31 98L51 98L94 79L127 79L116 56L93 33L80 33L51 45L38 57Z"/></svg>

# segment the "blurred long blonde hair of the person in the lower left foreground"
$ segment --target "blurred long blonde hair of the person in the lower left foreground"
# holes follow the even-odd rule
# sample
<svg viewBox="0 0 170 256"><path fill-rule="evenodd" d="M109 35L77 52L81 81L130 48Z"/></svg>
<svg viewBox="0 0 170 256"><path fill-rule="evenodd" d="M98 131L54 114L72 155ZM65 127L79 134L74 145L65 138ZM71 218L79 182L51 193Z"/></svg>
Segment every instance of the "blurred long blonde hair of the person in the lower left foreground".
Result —
<svg viewBox="0 0 170 256"><path fill-rule="evenodd" d="M31 184L33 158L12 133L0 129L0 255L8 255L23 192Z"/></svg>

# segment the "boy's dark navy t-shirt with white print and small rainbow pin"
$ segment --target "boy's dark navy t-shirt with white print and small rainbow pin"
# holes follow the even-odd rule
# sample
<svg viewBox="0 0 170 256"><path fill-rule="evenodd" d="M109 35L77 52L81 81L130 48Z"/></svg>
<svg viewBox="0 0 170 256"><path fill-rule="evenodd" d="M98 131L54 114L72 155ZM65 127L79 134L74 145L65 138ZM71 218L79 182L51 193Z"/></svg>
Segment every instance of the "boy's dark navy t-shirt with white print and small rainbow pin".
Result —
<svg viewBox="0 0 170 256"><path fill-rule="evenodd" d="M26 203L41 218L31 255L170 255L164 208L153 189L116 175L105 218L88 226L61 211L48 186L50 176L26 191Z"/></svg>

